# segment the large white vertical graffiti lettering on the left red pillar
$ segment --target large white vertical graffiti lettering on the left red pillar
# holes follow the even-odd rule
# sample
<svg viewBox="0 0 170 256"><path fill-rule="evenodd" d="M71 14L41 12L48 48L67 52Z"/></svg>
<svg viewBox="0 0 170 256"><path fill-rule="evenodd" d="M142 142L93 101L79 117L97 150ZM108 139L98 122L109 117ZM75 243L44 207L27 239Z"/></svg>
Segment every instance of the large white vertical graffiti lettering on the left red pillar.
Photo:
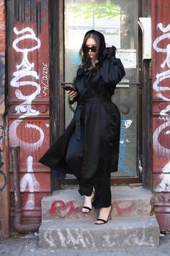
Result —
<svg viewBox="0 0 170 256"><path fill-rule="evenodd" d="M22 115L20 115L18 119L15 119L12 122L11 126L9 127L9 134L12 135L12 143L14 145L21 145L21 148L27 148L27 151L29 152L29 155L27 155L26 158L27 174L24 174L20 181L20 189L21 192L26 191L26 189L30 192L24 207L32 209L35 207L34 192L40 190L40 184L35 178L32 167L32 154L35 150L42 146L42 142L44 140L44 132L39 126L30 124L30 122L26 123L25 128L29 130L32 129L32 134L35 134L36 131L39 132L39 137L37 137L35 141L26 142L18 136L17 129L25 117L37 116L40 114L39 111L32 108L32 101L37 97L37 95L40 95L41 88L38 82L39 75L35 70L35 63L29 61L29 54L37 51L41 46L41 42L30 27L25 27L22 30L17 30L17 27L14 27L14 33L17 35L17 38L12 43L12 47L14 48L14 51L17 52L17 54L22 54L22 61L17 64L17 71L13 73L14 78L11 80L10 84L12 87L16 88L14 90L16 98L22 100L23 102L16 106L16 113L19 115L22 113ZM21 42L24 42L24 40L32 41L30 48L21 48ZM25 43L23 45L25 45ZM48 80L48 74L46 73L47 67L45 65L44 67L45 69L42 73L42 80ZM30 79L28 79L28 77ZM32 90L30 90L29 94L27 93L24 95L23 89L27 86L32 88Z"/></svg>

